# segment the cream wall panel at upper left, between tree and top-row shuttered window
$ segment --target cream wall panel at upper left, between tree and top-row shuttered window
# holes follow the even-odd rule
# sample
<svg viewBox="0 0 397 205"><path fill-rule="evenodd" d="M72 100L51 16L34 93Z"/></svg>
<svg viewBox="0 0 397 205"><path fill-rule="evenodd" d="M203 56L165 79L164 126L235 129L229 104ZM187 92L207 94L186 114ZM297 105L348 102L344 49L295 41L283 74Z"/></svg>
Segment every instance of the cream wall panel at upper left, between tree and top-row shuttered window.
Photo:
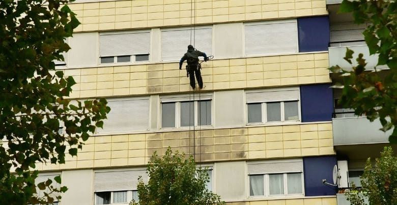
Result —
<svg viewBox="0 0 397 205"><path fill-rule="evenodd" d="M84 68L98 65L98 33L73 34L69 40L68 68Z"/></svg>

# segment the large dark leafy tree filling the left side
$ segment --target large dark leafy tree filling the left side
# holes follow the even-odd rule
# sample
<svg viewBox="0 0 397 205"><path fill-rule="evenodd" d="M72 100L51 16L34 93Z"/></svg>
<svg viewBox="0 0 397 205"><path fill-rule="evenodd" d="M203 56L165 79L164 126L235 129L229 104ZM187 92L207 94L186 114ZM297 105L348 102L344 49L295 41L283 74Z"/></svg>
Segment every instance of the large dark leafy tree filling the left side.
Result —
<svg viewBox="0 0 397 205"><path fill-rule="evenodd" d="M65 163L65 152L75 156L110 111L104 99L67 99L76 82L55 70L79 24L68 2L0 1L0 204L51 203L34 195L35 163ZM51 183L38 188L66 191Z"/></svg>

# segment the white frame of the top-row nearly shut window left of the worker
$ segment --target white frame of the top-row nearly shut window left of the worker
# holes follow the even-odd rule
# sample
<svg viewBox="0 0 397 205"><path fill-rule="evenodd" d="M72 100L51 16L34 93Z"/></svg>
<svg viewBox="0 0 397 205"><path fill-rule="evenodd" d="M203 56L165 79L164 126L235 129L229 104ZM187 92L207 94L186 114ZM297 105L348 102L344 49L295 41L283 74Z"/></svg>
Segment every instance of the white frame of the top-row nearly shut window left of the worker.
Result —
<svg viewBox="0 0 397 205"><path fill-rule="evenodd" d="M136 54L136 55L149 55L148 61L136 61L136 55L130 55L130 61L129 62L117 62L117 58L118 56L128 56L128 55L118 55L118 56L100 56L99 55L99 49L100 49L100 36L102 35L118 35L118 34L134 34L134 33L149 33L149 41L150 41L150 45L149 45L149 53L140 53L140 54ZM100 32L98 33L98 65L104 65L104 66L109 66L109 65L128 65L128 64L132 64L132 63L148 63L151 62L151 54L152 53L152 30L138 30L138 31L118 31L118 32ZM113 62L112 63L101 63L101 57L114 57Z"/></svg>

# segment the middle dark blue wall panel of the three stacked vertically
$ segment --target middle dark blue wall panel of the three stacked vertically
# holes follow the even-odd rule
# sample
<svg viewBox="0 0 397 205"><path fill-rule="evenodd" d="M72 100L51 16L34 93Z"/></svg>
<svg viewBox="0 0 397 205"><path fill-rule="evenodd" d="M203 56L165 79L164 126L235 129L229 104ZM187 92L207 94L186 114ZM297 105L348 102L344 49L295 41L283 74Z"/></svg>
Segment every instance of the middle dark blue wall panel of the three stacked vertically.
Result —
<svg viewBox="0 0 397 205"><path fill-rule="evenodd" d="M333 95L331 84L300 86L302 122L331 121Z"/></svg>

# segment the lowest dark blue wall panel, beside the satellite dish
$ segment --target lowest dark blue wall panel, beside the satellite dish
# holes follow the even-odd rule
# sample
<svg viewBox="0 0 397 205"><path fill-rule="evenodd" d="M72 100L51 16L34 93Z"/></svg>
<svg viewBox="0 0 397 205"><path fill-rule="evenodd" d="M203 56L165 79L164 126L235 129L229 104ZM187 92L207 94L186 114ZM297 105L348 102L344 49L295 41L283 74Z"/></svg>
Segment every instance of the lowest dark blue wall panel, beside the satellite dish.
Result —
<svg viewBox="0 0 397 205"><path fill-rule="evenodd" d="M323 179L333 183L332 169L335 164L336 156L303 158L305 196L336 195L337 187L323 184Z"/></svg>

